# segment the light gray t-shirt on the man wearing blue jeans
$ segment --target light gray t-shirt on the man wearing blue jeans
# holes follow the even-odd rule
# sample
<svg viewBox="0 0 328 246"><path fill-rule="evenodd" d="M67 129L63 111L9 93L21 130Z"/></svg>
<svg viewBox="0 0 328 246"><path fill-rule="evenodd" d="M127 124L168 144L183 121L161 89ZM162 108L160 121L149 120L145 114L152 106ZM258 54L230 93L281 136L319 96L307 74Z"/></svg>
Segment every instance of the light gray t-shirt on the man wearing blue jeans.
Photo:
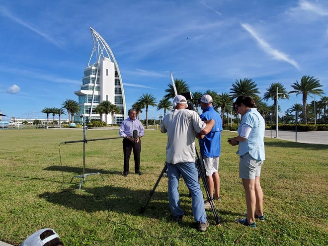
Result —
<svg viewBox="0 0 328 246"><path fill-rule="evenodd" d="M205 126L199 115L189 109L175 109L167 114L161 124L161 132L167 133L166 162L195 162L195 132L199 133Z"/></svg>

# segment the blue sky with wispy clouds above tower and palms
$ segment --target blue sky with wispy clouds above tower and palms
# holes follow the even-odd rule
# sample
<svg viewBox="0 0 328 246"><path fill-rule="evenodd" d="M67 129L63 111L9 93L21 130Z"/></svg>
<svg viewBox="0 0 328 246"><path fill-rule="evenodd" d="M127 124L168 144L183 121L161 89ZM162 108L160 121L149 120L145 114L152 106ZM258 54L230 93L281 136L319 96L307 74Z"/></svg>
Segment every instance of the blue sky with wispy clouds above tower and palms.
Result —
<svg viewBox="0 0 328 246"><path fill-rule="evenodd" d="M46 118L43 108L78 101L90 26L114 53L127 108L143 93L162 99L170 72L192 92L252 79L260 96L272 82L290 91L310 75L327 96L327 0L0 0L3 120ZM295 103L301 95L279 100L282 112Z"/></svg>

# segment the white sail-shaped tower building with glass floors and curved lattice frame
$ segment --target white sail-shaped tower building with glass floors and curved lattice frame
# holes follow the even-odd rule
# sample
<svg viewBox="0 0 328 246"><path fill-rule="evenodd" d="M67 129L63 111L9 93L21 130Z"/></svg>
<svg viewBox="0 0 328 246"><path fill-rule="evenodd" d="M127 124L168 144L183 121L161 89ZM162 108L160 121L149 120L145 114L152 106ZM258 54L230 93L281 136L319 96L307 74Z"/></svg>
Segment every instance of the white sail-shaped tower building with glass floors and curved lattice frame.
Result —
<svg viewBox="0 0 328 246"><path fill-rule="evenodd" d="M80 114L86 122L93 120L106 121L107 124L120 124L126 118L126 104L122 77L114 54L106 41L90 27L93 49L87 67L84 69L80 90L74 93L79 96ZM109 101L119 108L119 113L98 114L96 106L102 101ZM107 117L107 118L105 118ZM80 116L74 118L81 122ZM112 122L113 121L113 122Z"/></svg>

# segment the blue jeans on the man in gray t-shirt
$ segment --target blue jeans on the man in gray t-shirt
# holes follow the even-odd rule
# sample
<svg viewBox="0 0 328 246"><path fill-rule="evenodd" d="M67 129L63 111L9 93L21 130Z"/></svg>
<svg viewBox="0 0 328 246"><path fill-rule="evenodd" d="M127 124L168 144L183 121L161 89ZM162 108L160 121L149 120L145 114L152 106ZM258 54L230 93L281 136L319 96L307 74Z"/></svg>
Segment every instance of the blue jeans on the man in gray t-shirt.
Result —
<svg viewBox="0 0 328 246"><path fill-rule="evenodd" d="M196 163L167 163L168 203L173 216L182 215L180 207L178 184L180 174L191 194L191 211L196 222L206 222L203 193L198 182Z"/></svg>

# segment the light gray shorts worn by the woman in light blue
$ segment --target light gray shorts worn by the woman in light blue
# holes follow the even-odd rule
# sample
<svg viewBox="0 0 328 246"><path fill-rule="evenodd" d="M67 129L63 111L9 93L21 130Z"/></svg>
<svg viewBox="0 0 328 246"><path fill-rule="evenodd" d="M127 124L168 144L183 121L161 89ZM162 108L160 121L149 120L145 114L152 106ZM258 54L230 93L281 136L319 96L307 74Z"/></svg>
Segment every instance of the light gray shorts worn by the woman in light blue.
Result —
<svg viewBox="0 0 328 246"><path fill-rule="evenodd" d="M261 174L263 161L251 158L248 152L240 157L239 161L239 177L245 179L255 179Z"/></svg>

